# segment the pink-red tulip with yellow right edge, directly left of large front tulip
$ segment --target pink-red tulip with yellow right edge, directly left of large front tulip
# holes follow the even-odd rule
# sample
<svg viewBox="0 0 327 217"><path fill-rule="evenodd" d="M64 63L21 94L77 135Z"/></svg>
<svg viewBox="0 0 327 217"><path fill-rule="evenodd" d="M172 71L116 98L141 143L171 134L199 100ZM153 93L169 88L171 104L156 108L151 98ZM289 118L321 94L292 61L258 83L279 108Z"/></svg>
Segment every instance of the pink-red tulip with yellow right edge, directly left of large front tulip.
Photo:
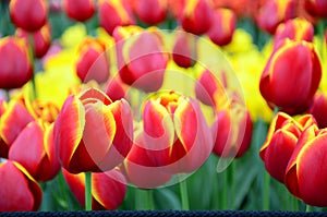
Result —
<svg viewBox="0 0 327 217"><path fill-rule="evenodd" d="M24 148L28 152L22 152ZM60 169L55 150L53 124L29 122L11 145L9 159L20 162L37 181L53 179Z"/></svg>

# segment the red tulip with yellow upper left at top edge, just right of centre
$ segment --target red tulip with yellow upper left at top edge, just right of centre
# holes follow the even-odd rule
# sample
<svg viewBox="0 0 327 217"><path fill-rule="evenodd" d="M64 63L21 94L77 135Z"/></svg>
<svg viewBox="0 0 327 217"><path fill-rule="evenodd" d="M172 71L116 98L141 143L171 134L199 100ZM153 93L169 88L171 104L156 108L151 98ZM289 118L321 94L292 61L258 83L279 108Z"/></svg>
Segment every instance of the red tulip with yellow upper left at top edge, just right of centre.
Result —
<svg viewBox="0 0 327 217"><path fill-rule="evenodd" d="M179 20L184 31L201 35L211 27L214 9L207 0L189 0L184 2Z"/></svg>

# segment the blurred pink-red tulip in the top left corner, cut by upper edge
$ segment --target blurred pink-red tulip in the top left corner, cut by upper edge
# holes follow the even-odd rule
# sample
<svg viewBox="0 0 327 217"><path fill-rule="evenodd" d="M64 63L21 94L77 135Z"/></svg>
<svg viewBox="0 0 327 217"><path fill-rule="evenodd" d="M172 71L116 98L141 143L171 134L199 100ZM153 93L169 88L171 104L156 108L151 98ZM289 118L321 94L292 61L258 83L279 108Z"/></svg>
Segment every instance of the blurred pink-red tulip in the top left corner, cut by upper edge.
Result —
<svg viewBox="0 0 327 217"><path fill-rule="evenodd" d="M9 9L15 26L26 32L38 31L47 22L48 5L45 0L12 0Z"/></svg>

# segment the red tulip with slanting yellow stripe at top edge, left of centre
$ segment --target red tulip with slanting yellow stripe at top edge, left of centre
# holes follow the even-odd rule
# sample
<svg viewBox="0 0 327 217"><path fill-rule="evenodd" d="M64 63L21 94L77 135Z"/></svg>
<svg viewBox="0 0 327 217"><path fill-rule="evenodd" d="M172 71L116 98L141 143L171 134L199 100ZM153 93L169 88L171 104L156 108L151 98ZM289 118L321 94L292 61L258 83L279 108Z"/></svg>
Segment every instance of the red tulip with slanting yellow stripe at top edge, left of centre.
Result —
<svg viewBox="0 0 327 217"><path fill-rule="evenodd" d="M132 10L125 0L100 0L99 22L109 35L117 26L134 25Z"/></svg>

